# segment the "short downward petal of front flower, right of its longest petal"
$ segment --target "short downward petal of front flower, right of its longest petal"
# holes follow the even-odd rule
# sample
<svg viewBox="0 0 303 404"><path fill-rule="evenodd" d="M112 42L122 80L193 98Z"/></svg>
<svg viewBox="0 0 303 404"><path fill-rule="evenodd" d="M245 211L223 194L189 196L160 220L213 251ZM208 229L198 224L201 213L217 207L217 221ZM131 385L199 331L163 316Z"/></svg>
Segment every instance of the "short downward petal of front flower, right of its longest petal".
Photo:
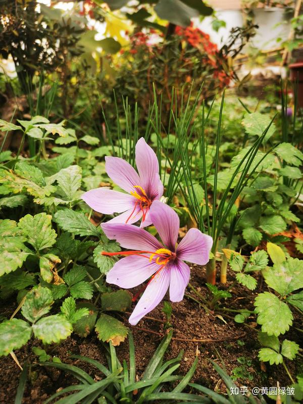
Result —
<svg viewBox="0 0 303 404"><path fill-rule="evenodd" d="M169 298L171 301L181 301L189 282L190 269L184 262L177 260L170 265Z"/></svg>

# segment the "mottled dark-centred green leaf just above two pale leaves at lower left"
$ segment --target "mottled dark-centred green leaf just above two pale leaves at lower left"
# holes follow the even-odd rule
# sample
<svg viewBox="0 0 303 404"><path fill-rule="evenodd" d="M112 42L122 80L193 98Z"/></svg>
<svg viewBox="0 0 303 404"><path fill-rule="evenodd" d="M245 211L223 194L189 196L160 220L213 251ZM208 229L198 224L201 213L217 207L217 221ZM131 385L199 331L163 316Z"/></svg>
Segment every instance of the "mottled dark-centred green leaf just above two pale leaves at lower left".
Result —
<svg viewBox="0 0 303 404"><path fill-rule="evenodd" d="M36 286L27 293L22 306L22 314L26 320L34 323L51 310L53 303L51 290L47 287Z"/></svg>

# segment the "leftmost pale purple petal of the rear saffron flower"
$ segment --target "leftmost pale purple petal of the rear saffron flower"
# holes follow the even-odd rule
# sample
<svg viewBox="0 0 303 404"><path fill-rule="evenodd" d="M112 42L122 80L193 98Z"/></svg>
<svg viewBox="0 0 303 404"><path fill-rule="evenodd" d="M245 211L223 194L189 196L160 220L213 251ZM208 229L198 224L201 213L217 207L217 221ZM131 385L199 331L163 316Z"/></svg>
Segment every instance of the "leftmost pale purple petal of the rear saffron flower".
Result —
<svg viewBox="0 0 303 404"><path fill-rule="evenodd" d="M109 188L91 189L83 193L81 198L94 211L104 213L105 215L124 212L134 206L135 200L132 195Z"/></svg>

